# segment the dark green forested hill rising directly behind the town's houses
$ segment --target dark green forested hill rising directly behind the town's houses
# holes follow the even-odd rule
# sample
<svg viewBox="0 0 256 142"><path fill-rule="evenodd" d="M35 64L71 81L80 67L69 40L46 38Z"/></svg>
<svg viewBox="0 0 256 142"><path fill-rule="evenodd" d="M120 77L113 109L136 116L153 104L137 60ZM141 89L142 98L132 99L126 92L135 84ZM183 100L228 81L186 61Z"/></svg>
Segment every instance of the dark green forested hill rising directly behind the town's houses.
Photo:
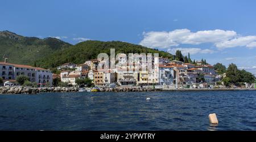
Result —
<svg viewBox="0 0 256 142"><path fill-rule="evenodd" d="M97 58L99 53L107 53L110 55L111 48L115 49L115 55L118 53L159 53L159 57L172 58L172 55L165 51L158 51L127 42L84 41L67 49L57 50L55 53L48 55L46 58L36 61L36 65L43 68L54 68L67 62L77 64L84 63L88 59Z"/></svg>

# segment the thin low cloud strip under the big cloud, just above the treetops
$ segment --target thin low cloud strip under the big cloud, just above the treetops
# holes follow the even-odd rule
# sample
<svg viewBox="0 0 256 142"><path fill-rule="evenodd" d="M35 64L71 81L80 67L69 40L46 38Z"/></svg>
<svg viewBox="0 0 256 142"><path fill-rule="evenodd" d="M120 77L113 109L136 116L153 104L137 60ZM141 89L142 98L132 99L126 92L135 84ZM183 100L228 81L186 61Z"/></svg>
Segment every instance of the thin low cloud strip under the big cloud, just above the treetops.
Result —
<svg viewBox="0 0 256 142"><path fill-rule="evenodd" d="M212 54L215 51L210 49L200 49L200 48L172 48L168 49L167 51L171 54L175 54L176 50L180 50L183 55L187 55L188 53L193 54Z"/></svg>

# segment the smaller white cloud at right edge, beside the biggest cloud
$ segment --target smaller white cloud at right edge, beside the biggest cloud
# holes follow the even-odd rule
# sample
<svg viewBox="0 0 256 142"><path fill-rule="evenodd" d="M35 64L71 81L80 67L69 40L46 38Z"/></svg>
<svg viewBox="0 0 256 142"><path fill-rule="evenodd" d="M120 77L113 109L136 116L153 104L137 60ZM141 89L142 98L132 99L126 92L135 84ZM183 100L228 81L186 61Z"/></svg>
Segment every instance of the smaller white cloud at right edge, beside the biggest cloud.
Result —
<svg viewBox="0 0 256 142"><path fill-rule="evenodd" d="M238 37L233 38L232 40L223 41L216 44L217 48L223 49L223 48L233 48L237 46L247 46L252 47L252 43L256 41L256 36L245 36L245 37Z"/></svg>

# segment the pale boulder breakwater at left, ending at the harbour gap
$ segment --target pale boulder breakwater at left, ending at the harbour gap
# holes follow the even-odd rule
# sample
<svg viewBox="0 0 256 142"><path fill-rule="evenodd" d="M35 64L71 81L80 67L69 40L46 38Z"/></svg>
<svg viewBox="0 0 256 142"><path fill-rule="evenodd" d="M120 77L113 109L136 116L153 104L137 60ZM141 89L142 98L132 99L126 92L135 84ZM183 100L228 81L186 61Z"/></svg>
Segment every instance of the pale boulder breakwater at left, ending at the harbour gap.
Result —
<svg viewBox="0 0 256 142"><path fill-rule="evenodd" d="M38 94L42 92L77 92L76 87L0 87L0 94Z"/></svg>

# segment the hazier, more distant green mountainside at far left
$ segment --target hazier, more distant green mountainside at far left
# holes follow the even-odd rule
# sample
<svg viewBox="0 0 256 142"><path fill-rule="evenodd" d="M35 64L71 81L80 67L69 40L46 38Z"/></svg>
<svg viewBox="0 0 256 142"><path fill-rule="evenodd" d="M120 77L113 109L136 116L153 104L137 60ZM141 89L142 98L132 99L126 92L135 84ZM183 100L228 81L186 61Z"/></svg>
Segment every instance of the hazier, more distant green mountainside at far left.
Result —
<svg viewBox="0 0 256 142"><path fill-rule="evenodd" d="M7 57L7 61L17 64L31 64L39 58L44 58L56 50L61 51L71 44L56 38L24 37L13 32L0 32L0 62Z"/></svg>

